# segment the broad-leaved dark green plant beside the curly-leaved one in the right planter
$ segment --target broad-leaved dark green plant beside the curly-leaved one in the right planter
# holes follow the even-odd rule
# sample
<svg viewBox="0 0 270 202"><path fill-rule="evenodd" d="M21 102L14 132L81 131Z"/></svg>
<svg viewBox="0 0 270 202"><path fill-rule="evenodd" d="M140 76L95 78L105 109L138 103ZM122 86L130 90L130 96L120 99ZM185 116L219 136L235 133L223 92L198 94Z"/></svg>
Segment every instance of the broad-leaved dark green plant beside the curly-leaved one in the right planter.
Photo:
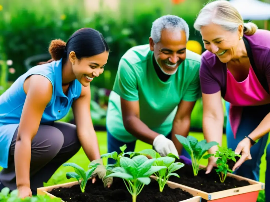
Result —
<svg viewBox="0 0 270 202"><path fill-rule="evenodd" d="M177 140L183 145L184 149L188 152L191 157L192 168L194 176L198 175L199 166L201 159L208 159L214 154L204 155L214 145L218 145L217 142L208 142L206 140L198 141L195 137L188 135L184 137L182 135L175 135Z"/></svg>

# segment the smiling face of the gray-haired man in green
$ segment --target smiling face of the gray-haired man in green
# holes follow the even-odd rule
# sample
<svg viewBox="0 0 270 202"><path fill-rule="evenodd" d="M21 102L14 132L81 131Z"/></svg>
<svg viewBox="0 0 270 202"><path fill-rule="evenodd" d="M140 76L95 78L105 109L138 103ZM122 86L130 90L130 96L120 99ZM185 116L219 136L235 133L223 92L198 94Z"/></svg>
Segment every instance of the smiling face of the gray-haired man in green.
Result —
<svg viewBox="0 0 270 202"><path fill-rule="evenodd" d="M186 57L187 39L185 31L162 30L160 41L154 43L150 37L149 44L161 70L168 75L175 74Z"/></svg>

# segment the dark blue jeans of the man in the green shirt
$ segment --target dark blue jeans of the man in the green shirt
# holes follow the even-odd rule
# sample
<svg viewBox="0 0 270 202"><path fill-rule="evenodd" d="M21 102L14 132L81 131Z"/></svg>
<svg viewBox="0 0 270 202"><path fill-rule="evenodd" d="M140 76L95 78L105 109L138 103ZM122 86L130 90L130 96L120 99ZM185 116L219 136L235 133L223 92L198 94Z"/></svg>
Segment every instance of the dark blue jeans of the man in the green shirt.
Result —
<svg viewBox="0 0 270 202"><path fill-rule="evenodd" d="M171 133L167 135L167 138L171 140ZM128 142L128 143L119 141L116 138L114 138L112 134L107 130L107 153L116 151L117 154L120 154L121 150L119 149L119 147L123 146L124 144L126 144L127 146L127 149L125 150L125 152L134 151L136 141ZM185 151L184 148L182 149L181 155L191 159L190 155ZM114 163L115 163L114 159L108 158L108 164L114 164Z"/></svg>

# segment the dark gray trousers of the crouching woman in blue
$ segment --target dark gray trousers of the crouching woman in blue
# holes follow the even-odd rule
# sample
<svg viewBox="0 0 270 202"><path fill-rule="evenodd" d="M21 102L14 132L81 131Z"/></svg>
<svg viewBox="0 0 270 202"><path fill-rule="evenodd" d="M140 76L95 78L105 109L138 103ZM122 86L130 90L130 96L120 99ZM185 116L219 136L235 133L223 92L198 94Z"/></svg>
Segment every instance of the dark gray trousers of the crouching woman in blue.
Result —
<svg viewBox="0 0 270 202"><path fill-rule="evenodd" d="M9 149L8 168L0 172L0 181L9 189L16 189L14 150L18 128ZM32 194L43 187L53 173L80 149L76 126L69 123L54 122L40 124L31 144L30 186Z"/></svg>

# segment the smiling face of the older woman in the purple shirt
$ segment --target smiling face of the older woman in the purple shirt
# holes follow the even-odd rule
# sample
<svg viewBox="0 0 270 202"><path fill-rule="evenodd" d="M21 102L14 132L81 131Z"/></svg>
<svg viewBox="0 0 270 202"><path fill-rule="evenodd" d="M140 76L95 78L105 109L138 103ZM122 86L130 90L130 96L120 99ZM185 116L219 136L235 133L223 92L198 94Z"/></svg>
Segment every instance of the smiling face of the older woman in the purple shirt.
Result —
<svg viewBox="0 0 270 202"><path fill-rule="evenodd" d="M217 55L223 63L237 58L241 52L239 39L243 36L242 26L239 26L236 32L230 32L224 30L220 25L211 23L201 27L201 35L205 49Z"/></svg>

